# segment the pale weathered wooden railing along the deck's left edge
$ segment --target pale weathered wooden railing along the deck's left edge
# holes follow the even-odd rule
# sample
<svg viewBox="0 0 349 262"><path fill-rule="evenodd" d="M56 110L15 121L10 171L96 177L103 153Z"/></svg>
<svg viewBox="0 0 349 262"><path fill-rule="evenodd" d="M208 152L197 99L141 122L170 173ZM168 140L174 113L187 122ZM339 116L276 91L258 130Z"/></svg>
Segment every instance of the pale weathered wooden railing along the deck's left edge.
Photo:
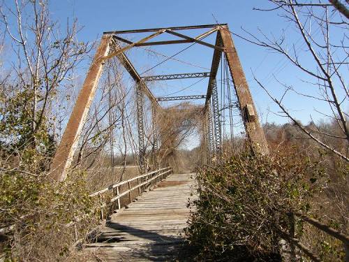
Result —
<svg viewBox="0 0 349 262"><path fill-rule="evenodd" d="M159 181L163 180L165 177L170 175L170 173L172 173L172 168L161 168L149 173L138 175L128 180L118 182L116 184L110 184L110 186L98 190L90 194L89 196L99 197L101 218L103 218L104 208L109 206L114 210L120 210L121 198L123 196L128 196L128 202L131 203L133 199L133 191L138 189L138 195L140 195L143 191L146 191L147 189L149 189L149 187L154 186L154 184L158 183ZM127 189L121 190L125 186L127 187ZM117 205L114 205L115 202L117 203Z"/></svg>

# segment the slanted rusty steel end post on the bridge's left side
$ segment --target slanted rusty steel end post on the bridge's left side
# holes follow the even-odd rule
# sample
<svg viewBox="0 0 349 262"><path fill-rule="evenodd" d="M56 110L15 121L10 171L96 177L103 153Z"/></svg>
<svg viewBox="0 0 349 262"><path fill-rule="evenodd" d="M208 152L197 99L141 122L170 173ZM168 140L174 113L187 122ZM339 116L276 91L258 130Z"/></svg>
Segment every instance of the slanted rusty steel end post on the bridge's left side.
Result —
<svg viewBox="0 0 349 262"><path fill-rule="evenodd" d="M66 179L80 138L82 126L94 98L98 80L101 77L103 58L107 56L109 50L110 36L103 36L50 166L50 177L54 180L63 181Z"/></svg>

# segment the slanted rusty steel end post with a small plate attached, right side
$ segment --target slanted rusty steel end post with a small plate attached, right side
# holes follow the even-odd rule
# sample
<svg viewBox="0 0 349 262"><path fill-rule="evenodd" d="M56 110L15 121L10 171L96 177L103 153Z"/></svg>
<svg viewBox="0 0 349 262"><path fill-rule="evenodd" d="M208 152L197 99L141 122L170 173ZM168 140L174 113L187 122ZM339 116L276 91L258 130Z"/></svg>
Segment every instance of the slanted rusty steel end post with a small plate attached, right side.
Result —
<svg viewBox="0 0 349 262"><path fill-rule="evenodd" d="M225 48L225 58L230 68L232 82L234 83L246 134L251 143L251 149L255 154L268 154L269 148L265 133L260 125L258 113L255 109L237 50L230 36L228 25L221 26L219 32L221 33L222 43Z"/></svg>

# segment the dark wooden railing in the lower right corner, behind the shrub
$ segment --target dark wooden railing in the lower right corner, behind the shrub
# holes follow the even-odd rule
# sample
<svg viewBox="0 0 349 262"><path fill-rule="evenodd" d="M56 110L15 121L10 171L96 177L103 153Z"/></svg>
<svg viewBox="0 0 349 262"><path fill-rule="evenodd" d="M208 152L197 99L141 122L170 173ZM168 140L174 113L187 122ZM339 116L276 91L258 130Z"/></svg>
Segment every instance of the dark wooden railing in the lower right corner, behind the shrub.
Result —
<svg viewBox="0 0 349 262"><path fill-rule="evenodd" d="M318 228L320 231L327 233L328 235L331 235L332 237L334 237L338 240L341 240L341 242L343 243L343 247L345 249L345 252L346 252L345 261L349 261L349 236L348 235L341 233L341 232L337 231L336 229L334 229L330 226L327 226L326 224L321 223L317 219L307 217L304 214L300 214L298 212L290 212L288 214L288 216L290 217L290 233L289 234L283 233L283 236L284 236L285 240L290 242L290 247L291 247L290 256L291 256L292 261L297 261L297 254L296 254L295 247L297 247L301 252L306 254L306 256L308 256L309 259L311 259L312 261L316 261L316 262L321 261L319 256L314 254L308 247L303 245L302 242L300 242L295 237L295 231L296 231L295 227L297 225L296 217L298 219L301 219L302 221L305 221L305 222L311 224L312 226L315 226L315 228Z"/></svg>

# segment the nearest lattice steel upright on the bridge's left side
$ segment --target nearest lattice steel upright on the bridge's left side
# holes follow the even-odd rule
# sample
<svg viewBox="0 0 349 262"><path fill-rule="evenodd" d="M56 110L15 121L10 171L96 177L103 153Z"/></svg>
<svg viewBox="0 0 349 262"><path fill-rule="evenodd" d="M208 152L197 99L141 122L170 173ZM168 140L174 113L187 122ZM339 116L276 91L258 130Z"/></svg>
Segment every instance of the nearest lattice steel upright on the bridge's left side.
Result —
<svg viewBox="0 0 349 262"><path fill-rule="evenodd" d="M143 112L143 92L138 84L136 87L136 107L138 124L138 150L140 173L145 173L145 143L144 143L144 112Z"/></svg>

